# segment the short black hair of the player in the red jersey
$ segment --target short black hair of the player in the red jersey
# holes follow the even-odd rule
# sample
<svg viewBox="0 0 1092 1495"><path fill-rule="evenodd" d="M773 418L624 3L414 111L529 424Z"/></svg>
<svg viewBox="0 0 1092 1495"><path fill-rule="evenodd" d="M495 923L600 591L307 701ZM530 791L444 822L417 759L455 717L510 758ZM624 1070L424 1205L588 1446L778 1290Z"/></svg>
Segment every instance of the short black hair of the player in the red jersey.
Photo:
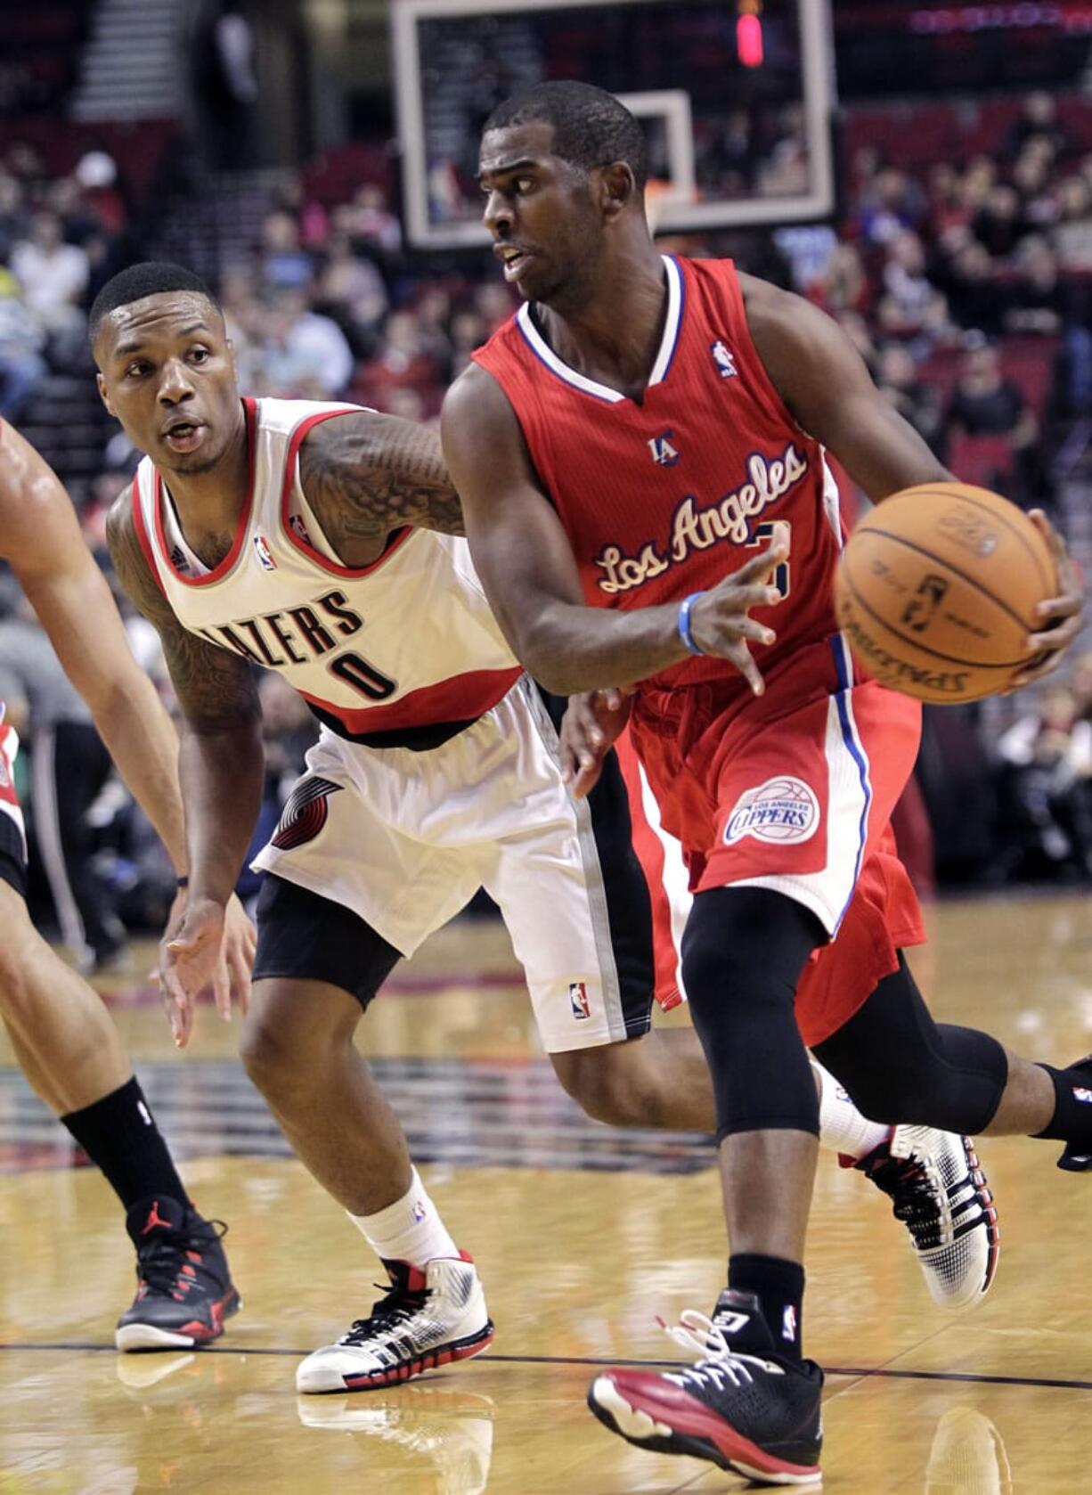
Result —
<svg viewBox="0 0 1092 1495"><path fill-rule="evenodd" d="M554 127L554 155L584 170L624 161L638 191L644 191L648 144L638 121L614 94L571 81L533 84L497 105L481 133L539 120Z"/></svg>

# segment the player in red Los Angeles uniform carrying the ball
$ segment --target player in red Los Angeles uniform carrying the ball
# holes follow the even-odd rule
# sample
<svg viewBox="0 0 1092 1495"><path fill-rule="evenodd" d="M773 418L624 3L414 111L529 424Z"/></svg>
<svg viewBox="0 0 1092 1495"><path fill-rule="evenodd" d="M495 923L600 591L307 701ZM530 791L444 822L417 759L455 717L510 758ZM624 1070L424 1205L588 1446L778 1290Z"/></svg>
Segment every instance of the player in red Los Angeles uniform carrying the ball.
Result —
<svg viewBox="0 0 1092 1495"><path fill-rule="evenodd" d="M636 686L633 740L696 888L683 970L729 1286L681 1331L705 1351L693 1371L607 1372L592 1408L641 1446L802 1483L822 1443L822 1372L801 1356L804 1041L866 1115L1080 1145L1089 1070L934 1024L899 954L920 930L887 819L919 709L854 676L835 629L823 446L874 499L947 474L825 315L730 262L657 253L644 151L583 84L490 117L484 220L524 305L448 392L444 449L517 656L559 694ZM1065 595L1029 647L1053 661L1083 599L1040 523Z"/></svg>

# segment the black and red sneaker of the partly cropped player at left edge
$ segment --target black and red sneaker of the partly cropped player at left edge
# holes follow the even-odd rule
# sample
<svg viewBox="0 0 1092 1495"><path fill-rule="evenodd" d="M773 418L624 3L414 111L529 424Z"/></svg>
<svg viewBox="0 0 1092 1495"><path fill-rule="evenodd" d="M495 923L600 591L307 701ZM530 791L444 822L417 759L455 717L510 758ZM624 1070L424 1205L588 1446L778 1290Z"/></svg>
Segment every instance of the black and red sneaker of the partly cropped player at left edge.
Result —
<svg viewBox="0 0 1092 1495"><path fill-rule="evenodd" d="M173 1350L208 1344L242 1308L220 1244L227 1226L203 1220L167 1195L139 1199L125 1215L136 1247L136 1298L118 1319L120 1350Z"/></svg>

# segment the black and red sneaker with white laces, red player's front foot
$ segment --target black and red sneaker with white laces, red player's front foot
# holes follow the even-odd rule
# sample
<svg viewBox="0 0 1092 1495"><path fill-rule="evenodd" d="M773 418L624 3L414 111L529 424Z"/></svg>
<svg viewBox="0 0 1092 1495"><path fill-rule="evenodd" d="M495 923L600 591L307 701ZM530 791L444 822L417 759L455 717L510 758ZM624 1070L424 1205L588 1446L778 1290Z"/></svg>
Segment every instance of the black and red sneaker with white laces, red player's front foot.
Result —
<svg viewBox="0 0 1092 1495"><path fill-rule="evenodd" d="M823 1372L775 1351L757 1298L723 1292L713 1319L687 1310L668 1332L701 1359L596 1375L587 1404L599 1422L639 1449L710 1459L762 1485L819 1483Z"/></svg>

